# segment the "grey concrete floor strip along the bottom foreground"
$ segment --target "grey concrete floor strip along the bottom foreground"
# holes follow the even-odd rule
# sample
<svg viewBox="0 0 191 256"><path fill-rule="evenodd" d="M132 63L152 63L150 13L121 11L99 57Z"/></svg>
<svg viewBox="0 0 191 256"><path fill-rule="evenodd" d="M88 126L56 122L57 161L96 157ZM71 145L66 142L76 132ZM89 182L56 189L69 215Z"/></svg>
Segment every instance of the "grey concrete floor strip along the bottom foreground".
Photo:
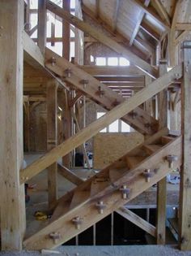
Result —
<svg viewBox="0 0 191 256"><path fill-rule="evenodd" d="M61 246L56 250L64 256L190 256L191 251L182 252L176 248L159 245L129 245L129 246ZM39 256L40 252L1 252L4 256Z"/></svg>

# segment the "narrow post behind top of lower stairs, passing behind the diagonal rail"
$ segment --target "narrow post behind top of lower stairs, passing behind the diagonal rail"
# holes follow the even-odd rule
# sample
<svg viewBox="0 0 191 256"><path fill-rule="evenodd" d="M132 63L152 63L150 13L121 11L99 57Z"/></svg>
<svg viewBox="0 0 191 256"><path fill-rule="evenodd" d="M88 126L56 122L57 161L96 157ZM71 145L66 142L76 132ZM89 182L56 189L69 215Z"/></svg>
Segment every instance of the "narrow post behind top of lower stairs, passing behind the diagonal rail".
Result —
<svg viewBox="0 0 191 256"><path fill-rule="evenodd" d="M159 76L167 72L167 60L159 61ZM168 127L168 90L164 89L158 93L159 101L159 130ZM166 177L157 184L157 244L165 244L166 236L166 203L167 203L167 181Z"/></svg>

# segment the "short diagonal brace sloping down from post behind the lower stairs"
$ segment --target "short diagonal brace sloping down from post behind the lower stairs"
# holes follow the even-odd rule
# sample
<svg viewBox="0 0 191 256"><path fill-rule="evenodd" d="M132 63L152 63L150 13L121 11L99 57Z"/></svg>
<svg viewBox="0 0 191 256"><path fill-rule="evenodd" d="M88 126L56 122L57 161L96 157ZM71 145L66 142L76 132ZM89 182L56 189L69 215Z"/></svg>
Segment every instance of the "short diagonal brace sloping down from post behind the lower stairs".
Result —
<svg viewBox="0 0 191 256"><path fill-rule="evenodd" d="M83 180L80 179L79 176L75 175L74 172L70 171L70 169L64 167L60 163L57 163L57 171L60 175L65 177L70 182L76 184L77 186L83 183Z"/></svg>

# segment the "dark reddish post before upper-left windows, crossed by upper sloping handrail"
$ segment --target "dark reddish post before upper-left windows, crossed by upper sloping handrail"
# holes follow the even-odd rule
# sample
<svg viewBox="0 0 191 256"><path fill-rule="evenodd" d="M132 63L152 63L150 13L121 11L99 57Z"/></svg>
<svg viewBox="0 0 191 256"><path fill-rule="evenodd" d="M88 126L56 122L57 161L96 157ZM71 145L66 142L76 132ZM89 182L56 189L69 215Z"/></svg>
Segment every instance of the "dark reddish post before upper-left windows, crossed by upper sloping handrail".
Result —
<svg viewBox="0 0 191 256"><path fill-rule="evenodd" d="M63 8L70 13L70 0L63 1ZM70 23L66 20L62 21L62 38L63 38L63 50L62 56L70 60Z"/></svg>

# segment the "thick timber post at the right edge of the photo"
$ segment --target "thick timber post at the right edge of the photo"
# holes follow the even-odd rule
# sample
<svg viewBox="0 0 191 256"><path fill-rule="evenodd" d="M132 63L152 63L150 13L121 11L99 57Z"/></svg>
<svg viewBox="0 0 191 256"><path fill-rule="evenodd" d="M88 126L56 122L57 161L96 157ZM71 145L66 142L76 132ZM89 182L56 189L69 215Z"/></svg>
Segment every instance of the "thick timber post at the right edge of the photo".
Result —
<svg viewBox="0 0 191 256"><path fill-rule="evenodd" d="M191 41L185 41L182 86L183 167L180 181L180 249L191 249Z"/></svg>

